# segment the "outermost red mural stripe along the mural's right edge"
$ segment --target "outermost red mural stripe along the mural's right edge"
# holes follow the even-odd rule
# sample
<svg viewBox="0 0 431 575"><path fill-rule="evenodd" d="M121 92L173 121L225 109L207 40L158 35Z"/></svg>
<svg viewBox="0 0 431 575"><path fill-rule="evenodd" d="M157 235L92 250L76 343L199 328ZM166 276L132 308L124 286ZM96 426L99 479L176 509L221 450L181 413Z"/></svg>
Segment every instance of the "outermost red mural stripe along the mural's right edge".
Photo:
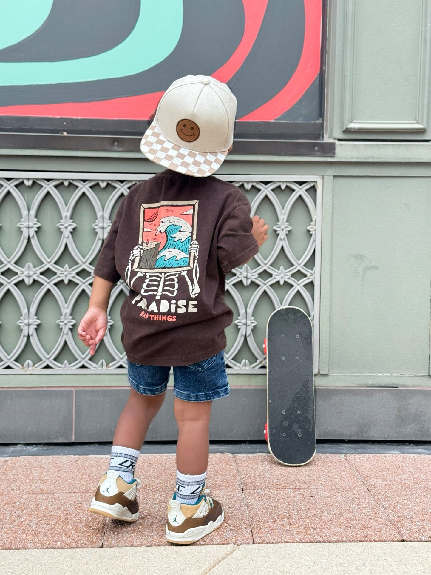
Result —
<svg viewBox="0 0 431 575"><path fill-rule="evenodd" d="M304 0L305 33L301 59L286 86L266 104L240 120L275 120L298 102L320 70L322 0Z"/></svg>

